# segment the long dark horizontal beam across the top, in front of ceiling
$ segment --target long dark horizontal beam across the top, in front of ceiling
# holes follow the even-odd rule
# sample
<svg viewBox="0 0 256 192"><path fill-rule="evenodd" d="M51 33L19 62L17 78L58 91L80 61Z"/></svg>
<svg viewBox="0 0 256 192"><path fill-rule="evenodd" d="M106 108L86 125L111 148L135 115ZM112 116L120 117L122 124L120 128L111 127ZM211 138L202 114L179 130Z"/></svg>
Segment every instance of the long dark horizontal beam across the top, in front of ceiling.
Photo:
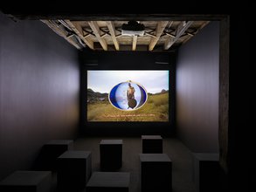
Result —
<svg viewBox="0 0 256 192"><path fill-rule="evenodd" d="M59 6L61 7L61 6ZM227 17L226 14L163 14L163 13L148 13L148 14L128 14L128 13L119 13L119 14L113 14L113 13L100 13L100 11L94 11L94 13L89 11L88 13L85 13L85 10L80 8L81 10L77 11L61 11L61 8L59 8L60 11L55 11L50 13L49 10L44 11L33 11L33 13L26 13L31 11L16 11L16 9L13 9L10 7L10 10L2 10L4 14L10 14L12 17L17 17L19 19L29 19L29 20L35 20L35 19L72 19L77 21L215 21L215 20L222 20L225 17ZM81 6L80 6L81 7ZM46 7L45 7L46 8ZM78 8L78 7L77 7ZM58 10L57 9L57 10ZM32 10L32 9L30 9ZM40 8L42 10L42 7ZM56 10L56 9L55 9ZM69 10L69 9L68 9ZM39 13L38 13L39 12ZM96 12L96 13L95 13ZM103 11L104 12L104 11ZM156 11L157 12L157 11Z"/></svg>

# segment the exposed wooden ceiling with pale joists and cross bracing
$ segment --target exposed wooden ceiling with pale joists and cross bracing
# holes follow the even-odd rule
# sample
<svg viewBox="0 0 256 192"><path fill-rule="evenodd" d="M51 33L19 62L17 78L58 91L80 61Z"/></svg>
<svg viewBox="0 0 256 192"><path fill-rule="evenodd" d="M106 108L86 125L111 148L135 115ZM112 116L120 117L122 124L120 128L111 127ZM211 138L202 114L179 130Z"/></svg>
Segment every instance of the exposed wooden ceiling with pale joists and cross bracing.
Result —
<svg viewBox="0 0 256 192"><path fill-rule="evenodd" d="M195 36L209 21L41 20L77 49L170 51Z"/></svg>

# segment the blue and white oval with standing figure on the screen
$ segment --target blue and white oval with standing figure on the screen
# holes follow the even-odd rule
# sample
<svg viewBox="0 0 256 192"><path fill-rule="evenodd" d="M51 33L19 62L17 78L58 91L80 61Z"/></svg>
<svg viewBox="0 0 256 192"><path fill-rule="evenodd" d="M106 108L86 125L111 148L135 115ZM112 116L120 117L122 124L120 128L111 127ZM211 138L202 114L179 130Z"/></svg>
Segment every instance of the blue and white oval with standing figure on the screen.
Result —
<svg viewBox="0 0 256 192"><path fill-rule="evenodd" d="M109 102L123 111L132 111L142 107L148 93L145 88L134 82L122 82L112 88L109 93Z"/></svg>

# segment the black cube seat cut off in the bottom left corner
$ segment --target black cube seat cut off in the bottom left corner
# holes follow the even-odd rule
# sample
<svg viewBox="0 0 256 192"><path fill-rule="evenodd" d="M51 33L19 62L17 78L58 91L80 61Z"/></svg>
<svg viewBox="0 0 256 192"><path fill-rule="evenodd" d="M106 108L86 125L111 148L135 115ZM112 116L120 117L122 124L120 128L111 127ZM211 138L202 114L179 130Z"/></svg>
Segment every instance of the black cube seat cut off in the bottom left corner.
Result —
<svg viewBox="0 0 256 192"><path fill-rule="evenodd" d="M1 192L50 192L51 171L16 171L0 182Z"/></svg>

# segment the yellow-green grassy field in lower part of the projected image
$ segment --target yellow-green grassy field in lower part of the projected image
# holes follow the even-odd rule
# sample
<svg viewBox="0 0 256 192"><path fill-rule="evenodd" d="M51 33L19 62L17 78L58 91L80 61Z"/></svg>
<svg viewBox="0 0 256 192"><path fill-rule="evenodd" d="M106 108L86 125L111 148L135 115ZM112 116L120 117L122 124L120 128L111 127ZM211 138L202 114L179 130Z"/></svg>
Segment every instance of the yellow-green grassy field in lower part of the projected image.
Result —
<svg viewBox="0 0 256 192"><path fill-rule="evenodd" d="M88 121L168 121L169 93L149 95L144 106L135 111L121 111L108 101L87 105Z"/></svg>

